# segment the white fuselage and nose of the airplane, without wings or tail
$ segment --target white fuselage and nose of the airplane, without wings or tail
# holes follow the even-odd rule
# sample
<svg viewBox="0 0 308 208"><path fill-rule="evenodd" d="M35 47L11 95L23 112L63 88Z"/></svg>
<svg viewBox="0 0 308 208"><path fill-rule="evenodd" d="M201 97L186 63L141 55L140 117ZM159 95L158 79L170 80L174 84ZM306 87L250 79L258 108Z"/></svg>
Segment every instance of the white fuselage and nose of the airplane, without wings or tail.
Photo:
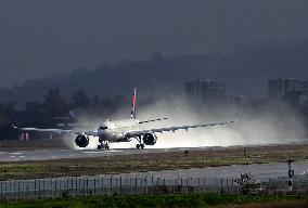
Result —
<svg viewBox="0 0 308 208"><path fill-rule="evenodd" d="M125 134L129 131L137 130L139 120L125 119L125 120L106 120L98 128L100 141L107 142L129 142L129 138Z"/></svg>

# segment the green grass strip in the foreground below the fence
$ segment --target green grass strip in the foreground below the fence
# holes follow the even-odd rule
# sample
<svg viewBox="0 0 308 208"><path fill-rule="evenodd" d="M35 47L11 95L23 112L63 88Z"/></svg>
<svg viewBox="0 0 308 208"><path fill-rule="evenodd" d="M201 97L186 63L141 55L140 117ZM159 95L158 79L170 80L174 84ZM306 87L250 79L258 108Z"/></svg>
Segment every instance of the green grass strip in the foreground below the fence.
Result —
<svg viewBox="0 0 308 208"><path fill-rule="evenodd" d="M124 195L124 196L95 196L74 197L59 199L30 199L1 202L0 208L35 208L35 207L131 207L131 208L176 208L176 207L308 207L308 196L242 196L242 195L218 195L190 194L190 195Z"/></svg>

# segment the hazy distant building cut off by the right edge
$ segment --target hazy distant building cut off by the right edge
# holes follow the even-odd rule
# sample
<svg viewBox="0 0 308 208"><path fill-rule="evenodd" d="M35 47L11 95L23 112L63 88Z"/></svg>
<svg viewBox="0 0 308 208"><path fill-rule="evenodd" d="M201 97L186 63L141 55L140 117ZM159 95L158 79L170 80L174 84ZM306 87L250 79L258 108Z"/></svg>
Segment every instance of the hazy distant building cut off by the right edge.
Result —
<svg viewBox="0 0 308 208"><path fill-rule="evenodd" d="M268 81L268 94L271 100L298 103L308 95L308 80L281 77Z"/></svg>

